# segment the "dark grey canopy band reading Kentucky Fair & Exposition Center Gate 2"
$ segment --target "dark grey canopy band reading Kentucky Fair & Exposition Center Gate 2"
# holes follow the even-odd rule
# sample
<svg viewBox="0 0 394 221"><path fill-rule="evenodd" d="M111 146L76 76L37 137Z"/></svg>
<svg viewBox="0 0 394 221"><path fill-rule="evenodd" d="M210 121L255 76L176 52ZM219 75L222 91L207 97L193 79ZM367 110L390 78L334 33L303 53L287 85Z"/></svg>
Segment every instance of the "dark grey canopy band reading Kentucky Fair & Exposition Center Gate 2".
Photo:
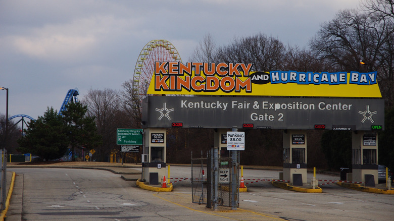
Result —
<svg viewBox="0 0 394 221"><path fill-rule="evenodd" d="M384 130L383 99L149 96L143 128Z"/></svg>

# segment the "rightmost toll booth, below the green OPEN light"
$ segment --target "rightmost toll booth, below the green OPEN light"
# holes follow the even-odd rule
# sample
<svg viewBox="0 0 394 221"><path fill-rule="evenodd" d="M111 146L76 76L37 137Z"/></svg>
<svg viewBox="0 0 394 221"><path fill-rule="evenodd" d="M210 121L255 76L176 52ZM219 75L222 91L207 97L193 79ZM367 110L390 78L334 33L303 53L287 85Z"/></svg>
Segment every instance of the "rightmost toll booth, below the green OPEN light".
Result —
<svg viewBox="0 0 394 221"><path fill-rule="evenodd" d="M353 131L351 181L363 182L366 186L378 183L377 136L371 131Z"/></svg>

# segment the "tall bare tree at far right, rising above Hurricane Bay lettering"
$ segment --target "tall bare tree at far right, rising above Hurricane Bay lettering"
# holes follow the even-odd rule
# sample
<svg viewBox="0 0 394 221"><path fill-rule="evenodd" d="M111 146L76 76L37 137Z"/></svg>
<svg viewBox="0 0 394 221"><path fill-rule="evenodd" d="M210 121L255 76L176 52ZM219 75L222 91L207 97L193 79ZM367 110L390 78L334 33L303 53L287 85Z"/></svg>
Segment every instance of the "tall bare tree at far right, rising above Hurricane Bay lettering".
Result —
<svg viewBox="0 0 394 221"><path fill-rule="evenodd" d="M357 10L340 11L321 26L310 41L318 59L327 60L336 69L377 71L382 96L392 105L394 26L388 19ZM364 60L366 65L360 64Z"/></svg>

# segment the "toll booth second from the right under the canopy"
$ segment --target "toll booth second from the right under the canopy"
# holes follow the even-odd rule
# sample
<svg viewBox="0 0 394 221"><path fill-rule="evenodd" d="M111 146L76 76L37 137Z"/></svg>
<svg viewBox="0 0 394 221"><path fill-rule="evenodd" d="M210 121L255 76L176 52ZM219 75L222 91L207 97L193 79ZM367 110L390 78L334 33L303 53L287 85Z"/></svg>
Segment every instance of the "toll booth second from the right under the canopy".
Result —
<svg viewBox="0 0 394 221"><path fill-rule="evenodd" d="M289 180L296 186L307 183L307 133L305 131L283 131L283 180Z"/></svg>

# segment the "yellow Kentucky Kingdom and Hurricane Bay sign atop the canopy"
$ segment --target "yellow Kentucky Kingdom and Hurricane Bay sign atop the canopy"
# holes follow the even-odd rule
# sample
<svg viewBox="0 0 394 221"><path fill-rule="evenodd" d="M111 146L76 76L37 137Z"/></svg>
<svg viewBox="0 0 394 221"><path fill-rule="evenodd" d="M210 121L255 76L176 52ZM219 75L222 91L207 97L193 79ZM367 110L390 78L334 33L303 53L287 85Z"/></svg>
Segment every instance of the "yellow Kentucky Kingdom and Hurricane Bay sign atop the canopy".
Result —
<svg viewBox="0 0 394 221"><path fill-rule="evenodd" d="M155 62L147 94L381 97L377 72L251 72L252 66Z"/></svg>

